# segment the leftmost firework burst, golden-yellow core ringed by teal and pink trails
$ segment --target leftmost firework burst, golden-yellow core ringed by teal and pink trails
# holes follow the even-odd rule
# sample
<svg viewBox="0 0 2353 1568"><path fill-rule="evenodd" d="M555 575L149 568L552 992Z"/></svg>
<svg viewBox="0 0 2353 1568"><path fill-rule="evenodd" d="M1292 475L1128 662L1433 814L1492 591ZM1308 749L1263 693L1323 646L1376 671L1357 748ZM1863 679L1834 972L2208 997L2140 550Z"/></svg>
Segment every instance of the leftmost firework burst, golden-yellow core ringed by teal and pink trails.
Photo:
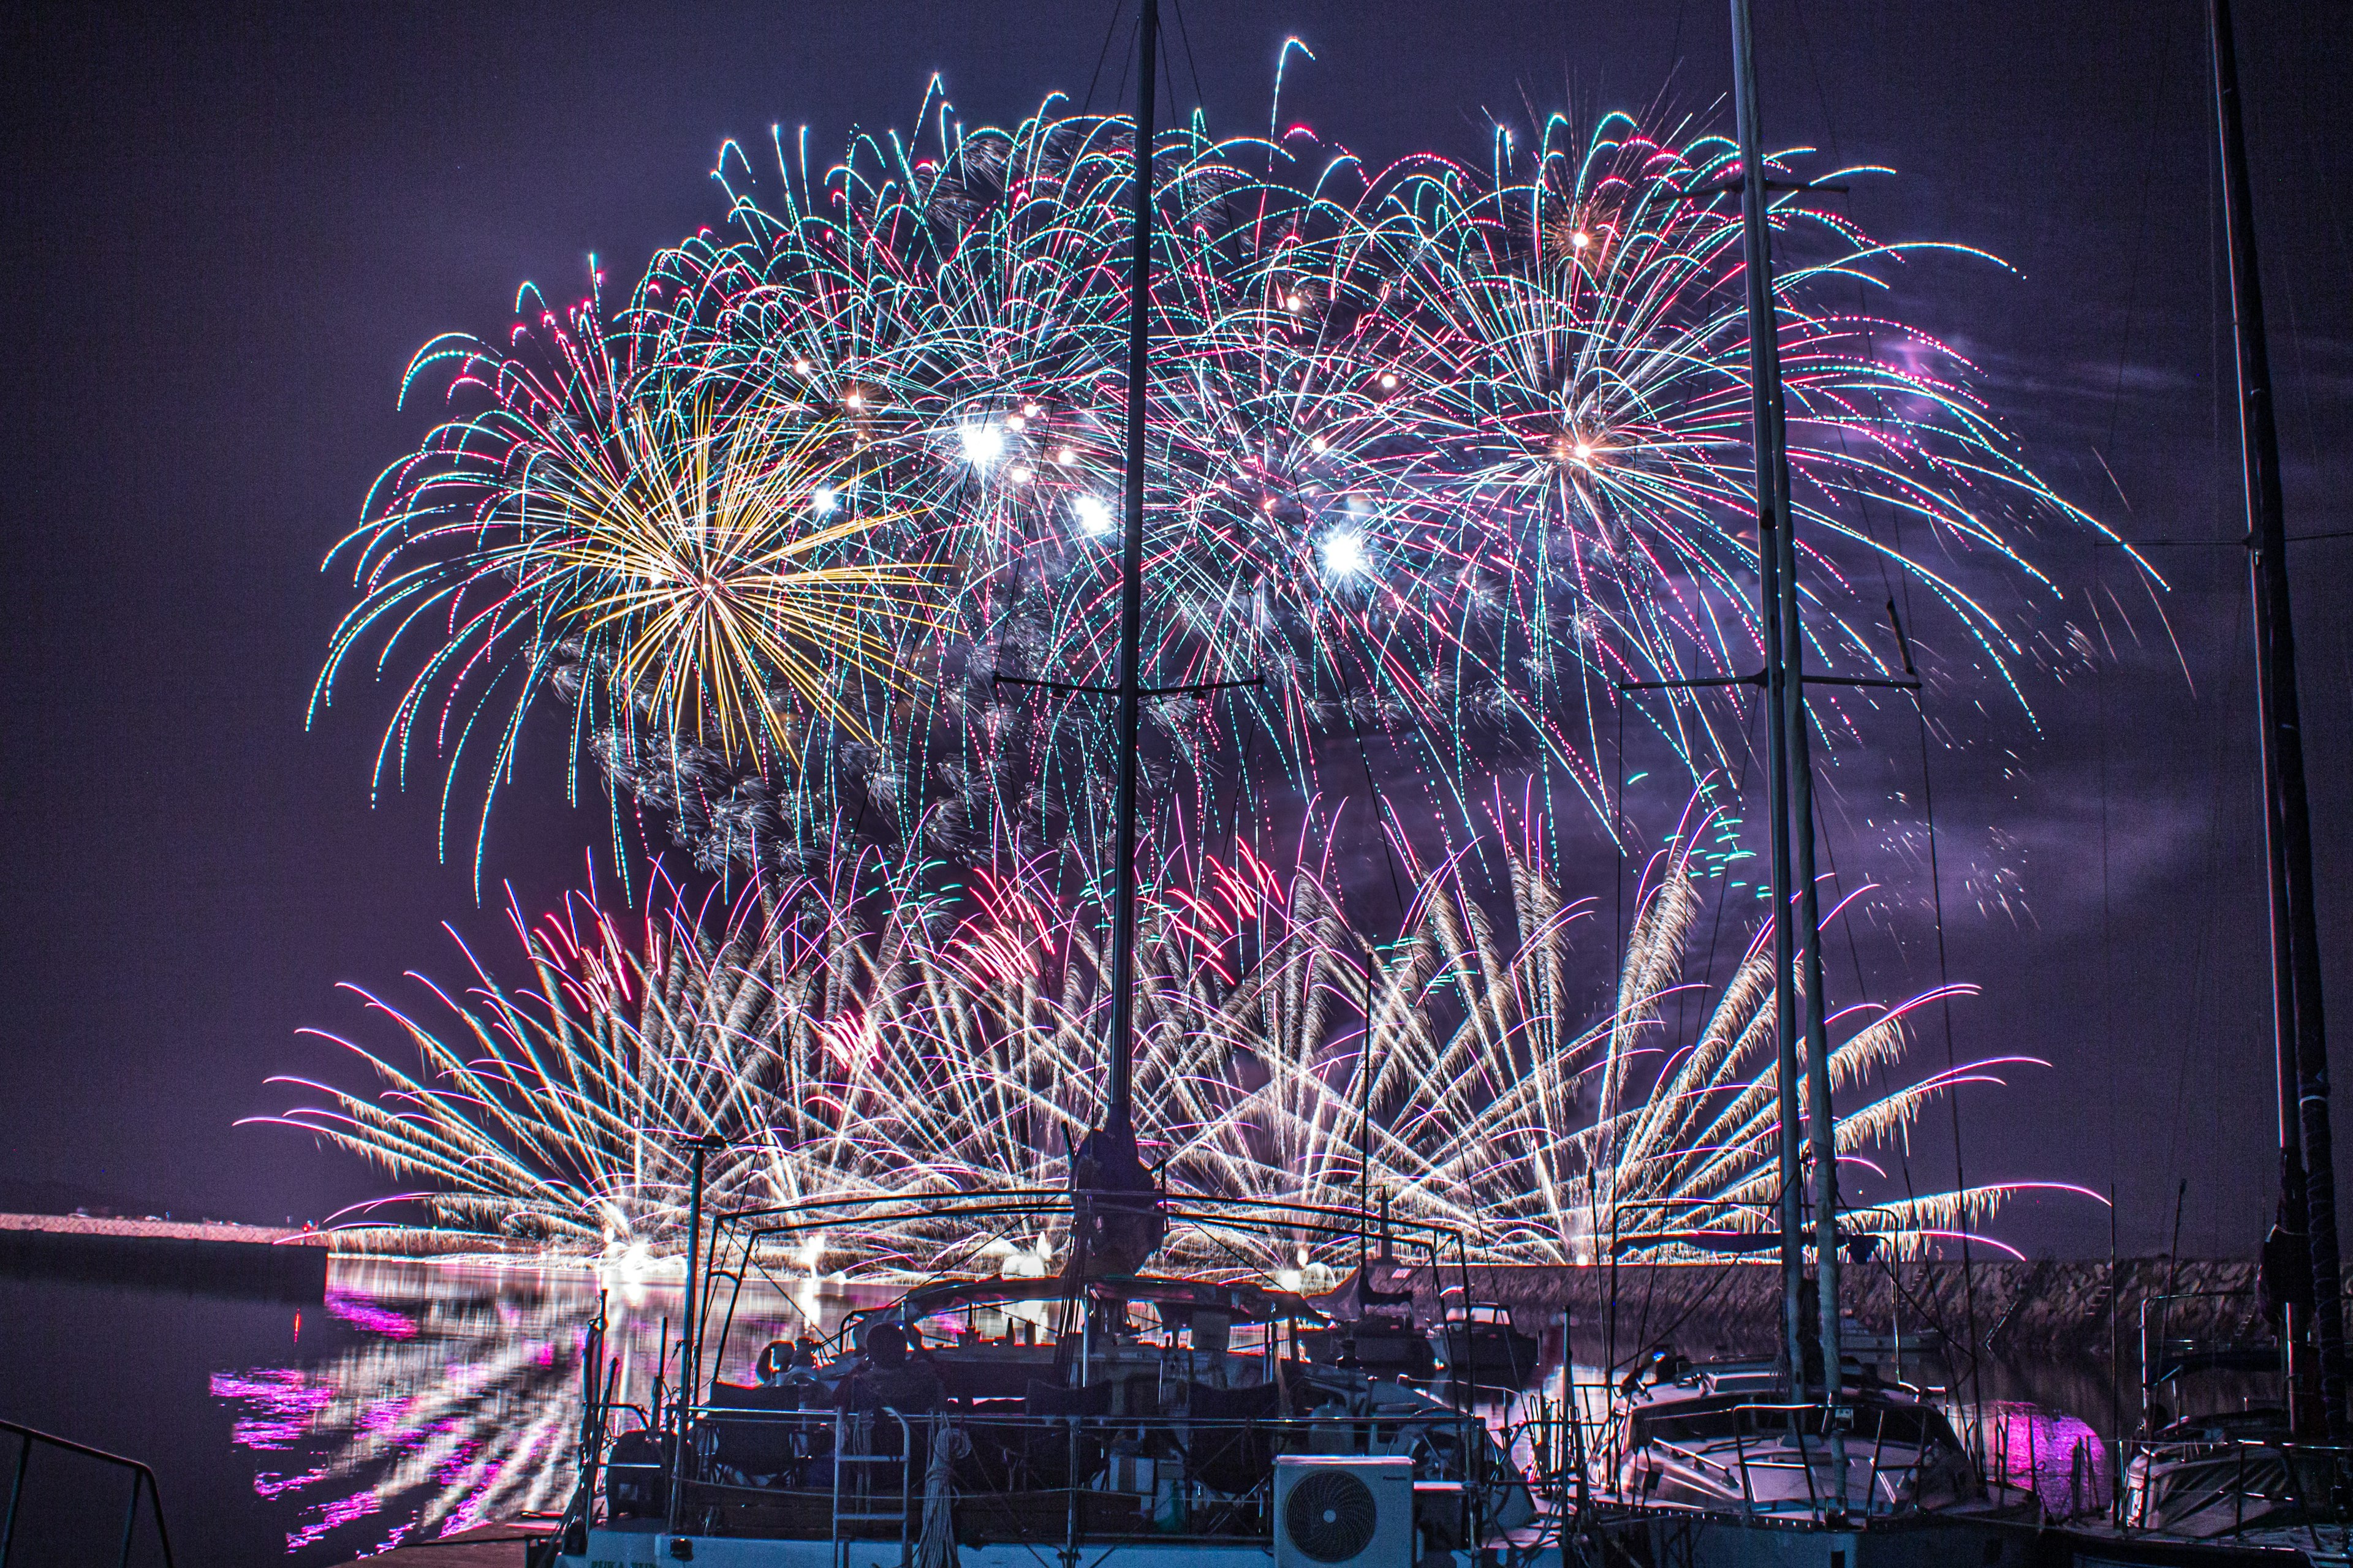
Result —
<svg viewBox="0 0 2353 1568"><path fill-rule="evenodd" d="M901 512L871 503L854 433L718 376L631 369L593 313L572 327L536 369L473 341L419 355L461 360L489 402L388 470L344 543L362 599L315 705L369 644L379 672L421 649L379 778L426 741L454 785L494 731L492 792L548 686L579 733L729 766L798 764L816 726L866 738L934 614L932 567L899 559Z"/></svg>

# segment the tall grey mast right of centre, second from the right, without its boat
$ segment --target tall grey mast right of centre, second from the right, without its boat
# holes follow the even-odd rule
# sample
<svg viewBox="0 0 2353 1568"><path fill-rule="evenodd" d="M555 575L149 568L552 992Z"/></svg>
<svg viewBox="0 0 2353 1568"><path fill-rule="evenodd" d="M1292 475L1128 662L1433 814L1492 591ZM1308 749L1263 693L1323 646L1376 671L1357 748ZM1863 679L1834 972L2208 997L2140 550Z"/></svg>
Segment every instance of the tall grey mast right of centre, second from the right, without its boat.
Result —
<svg viewBox="0 0 2353 1568"><path fill-rule="evenodd" d="M1741 221L1748 268L1748 381L1758 498L1758 621L1765 635L1769 752L1774 1001L1781 1046L1781 1314L1791 1385L1805 1378L1798 1215L1798 1011L1805 999L1807 1143L1814 1159L1814 1286L1819 1291L1821 1399L1838 1403L1838 1150L1831 1121L1831 1044L1821 994L1821 905L1814 893L1814 764L1805 710L1805 623L1788 505L1781 411L1781 334L1772 299L1769 181L1758 113L1755 33L1748 0L1732 0L1732 80L1741 141ZM1795 903L1795 910L1791 907ZM1835 1446L1835 1427L1833 1427ZM1847 1469L1833 1465L1845 1512Z"/></svg>

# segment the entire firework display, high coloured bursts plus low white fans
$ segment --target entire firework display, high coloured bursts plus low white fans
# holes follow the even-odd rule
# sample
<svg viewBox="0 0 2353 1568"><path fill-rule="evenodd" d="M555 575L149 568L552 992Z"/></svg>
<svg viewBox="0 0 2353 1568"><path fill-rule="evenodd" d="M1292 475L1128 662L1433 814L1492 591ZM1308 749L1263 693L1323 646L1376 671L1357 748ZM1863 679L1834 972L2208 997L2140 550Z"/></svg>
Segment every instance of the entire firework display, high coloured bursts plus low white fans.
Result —
<svg viewBox="0 0 2353 1568"><path fill-rule="evenodd" d="M1052 1267L1054 1234L882 1211L1059 1185L1101 1117L1134 129L1056 101L972 129L936 89L918 122L816 174L729 143L722 230L412 367L449 416L329 557L360 597L315 705L398 672L379 776L431 752L445 816L487 776L482 825L553 712L624 865L640 813L706 889L656 860L642 917L511 910L525 987L468 954L431 1013L369 999L405 1037L346 1041L379 1084L278 1121L421 1182L438 1222L675 1258L694 1135L725 1143L727 1206L849 1201L812 1244L838 1267ZM1769 1225L1765 933L1729 978L1685 957L1739 886L1706 802L1760 663L1734 172L1729 141L1624 115L1497 134L1485 167L1198 115L1158 136L1136 1110L1172 1194L1379 1194L1518 1262ZM1772 230L1807 656L1887 672L1871 571L1941 607L1946 677L2017 696L2012 616L1955 562L2031 597L2026 529L2097 524L1953 353L1852 306L1904 247L1805 188ZM1628 691L1685 679L1715 689ZM1595 1006L1553 827L1624 837L1605 715L1701 804ZM1334 863L1358 771L1409 882L1379 931ZM1480 825L1506 778L1520 827ZM1842 1159L1993 1067L1901 1079L1944 994L1838 1016ZM2002 1194L1852 1225L1918 1251ZM1278 1276L1332 1248L1169 1239Z"/></svg>

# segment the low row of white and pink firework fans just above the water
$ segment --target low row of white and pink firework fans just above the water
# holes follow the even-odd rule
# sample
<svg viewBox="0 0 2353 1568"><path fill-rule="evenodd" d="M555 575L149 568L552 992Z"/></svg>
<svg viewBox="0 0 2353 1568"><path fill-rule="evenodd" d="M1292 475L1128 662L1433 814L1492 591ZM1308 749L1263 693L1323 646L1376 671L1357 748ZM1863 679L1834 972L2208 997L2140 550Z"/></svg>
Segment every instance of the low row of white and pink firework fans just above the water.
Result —
<svg viewBox="0 0 2353 1568"><path fill-rule="evenodd" d="M1428 867L1405 936L1381 950L1311 853L1282 867L1249 851L1200 858L1184 884L1151 889L1136 1100L1169 1192L1327 1206L1379 1194L1494 1262L1569 1262L1605 1244L1673 1253L1694 1229L1769 1225L1762 936L1722 985L1685 973L1706 903L1694 844L1711 827L1694 809L1657 860L1600 1006L1569 985L1586 910L1541 863L1539 832L1499 849L1504 889L1471 856ZM402 1037L341 1041L376 1084L278 1079L320 1100L271 1121L421 1180L445 1225L551 1255L675 1255L680 1140L715 1135L718 1208L849 1201L819 1244L835 1269L1042 1267L1052 1234L885 1211L1056 1185L1071 1128L1101 1112L1096 922L1052 903L1042 872L925 891L929 872L866 851L725 919L678 889L628 922L588 896L536 924L518 912L529 985L468 954L461 994L421 980L428 1013L367 997ZM1664 1006L1680 992L1711 997L1687 1041ZM1842 1159L1868 1164L1939 1095L2024 1060L1897 1081L1908 1013L1941 994L1835 1020ZM1859 1206L1847 1222L1918 1251L1981 1225L2007 1192ZM374 1239L398 1241L398 1227ZM1167 1246L1181 1269L1271 1276L1344 1267L1344 1251L1186 1227Z"/></svg>

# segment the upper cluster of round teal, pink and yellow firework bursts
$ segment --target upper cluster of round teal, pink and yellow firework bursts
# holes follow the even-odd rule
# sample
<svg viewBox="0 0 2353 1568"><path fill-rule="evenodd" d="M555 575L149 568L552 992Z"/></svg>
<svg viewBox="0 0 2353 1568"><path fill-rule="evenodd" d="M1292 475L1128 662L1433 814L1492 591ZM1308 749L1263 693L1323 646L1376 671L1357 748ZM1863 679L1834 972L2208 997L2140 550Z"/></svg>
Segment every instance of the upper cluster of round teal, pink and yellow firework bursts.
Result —
<svg viewBox="0 0 2353 1568"><path fill-rule="evenodd" d="M468 729L499 776L553 686L708 867L915 835L1099 860L1099 705L998 677L1115 675L1132 127L1049 101L969 129L936 87L918 125L814 176L805 146L755 176L729 143L727 228L624 306L428 346L412 383L464 411L346 541L362 599L320 698L362 649L414 668L386 755L431 738L454 785ZM1758 661L1729 169L1624 115L1499 134L1485 169L1200 118L1158 139L1144 677L1257 682L1148 705L1160 797L1264 813L1379 745L1454 820L1497 771L1609 816L1617 703L1694 778L1739 748L1732 698L1617 689ZM1904 247L1805 193L1772 221L1812 656L1885 672L1849 583L1899 574L2014 689L2002 611L1939 562L2047 588L2024 527L2097 524L1951 350L1833 306ZM1901 522L1934 548L1897 550Z"/></svg>

